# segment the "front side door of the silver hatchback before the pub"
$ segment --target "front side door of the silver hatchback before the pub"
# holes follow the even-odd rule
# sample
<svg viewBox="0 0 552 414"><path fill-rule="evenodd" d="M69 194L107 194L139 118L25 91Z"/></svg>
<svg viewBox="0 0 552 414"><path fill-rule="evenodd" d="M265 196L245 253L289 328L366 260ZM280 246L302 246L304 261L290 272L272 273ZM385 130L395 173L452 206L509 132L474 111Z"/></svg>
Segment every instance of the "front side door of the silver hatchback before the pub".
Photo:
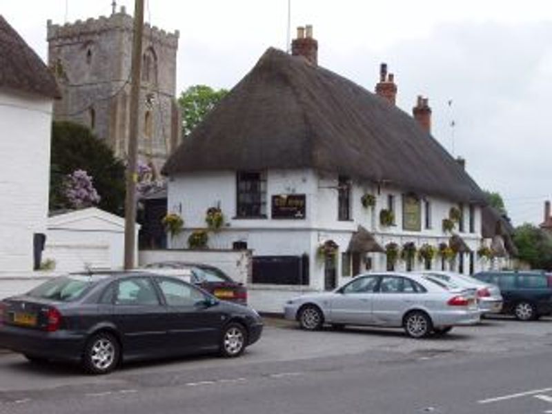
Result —
<svg viewBox="0 0 552 414"><path fill-rule="evenodd" d="M355 277L333 295L330 303L331 321L339 324L373 324L372 299L379 277Z"/></svg>

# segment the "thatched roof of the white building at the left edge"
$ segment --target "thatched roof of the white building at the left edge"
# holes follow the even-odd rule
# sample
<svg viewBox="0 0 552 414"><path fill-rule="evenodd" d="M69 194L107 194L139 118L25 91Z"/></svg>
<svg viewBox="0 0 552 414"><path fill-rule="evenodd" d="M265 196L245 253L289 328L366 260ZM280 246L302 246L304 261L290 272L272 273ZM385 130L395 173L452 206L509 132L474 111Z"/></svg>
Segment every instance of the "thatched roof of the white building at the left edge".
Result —
<svg viewBox="0 0 552 414"><path fill-rule="evenodd" d="M46 64L1 15L0 88L49 98L61 97Z"/></svg>

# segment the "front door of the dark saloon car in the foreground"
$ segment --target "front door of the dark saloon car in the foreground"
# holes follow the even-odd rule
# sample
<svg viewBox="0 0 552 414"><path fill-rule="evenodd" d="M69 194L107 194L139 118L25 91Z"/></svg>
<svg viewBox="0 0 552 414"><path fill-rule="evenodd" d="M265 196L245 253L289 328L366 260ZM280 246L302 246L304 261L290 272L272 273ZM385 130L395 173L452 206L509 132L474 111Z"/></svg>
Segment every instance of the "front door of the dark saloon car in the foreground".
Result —
<svg viewBox="0 0 552 414"><path fill-rule="evenodd" d="M166 328L172 353L193 353L219 345L226 319L217 300L192 284L155 277L166 306Z"/></svg>

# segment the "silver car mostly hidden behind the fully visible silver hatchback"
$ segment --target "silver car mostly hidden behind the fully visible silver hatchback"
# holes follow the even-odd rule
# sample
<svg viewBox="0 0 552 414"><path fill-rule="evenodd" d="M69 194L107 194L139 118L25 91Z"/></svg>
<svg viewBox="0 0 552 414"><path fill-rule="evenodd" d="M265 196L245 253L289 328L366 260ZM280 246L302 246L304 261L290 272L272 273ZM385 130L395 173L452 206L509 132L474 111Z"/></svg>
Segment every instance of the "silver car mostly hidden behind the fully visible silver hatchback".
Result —
<svg viewBox="0 0 552 414"><path fill-rule="evenodd" d="M500 313L502 311L502 295L500 289L489 283L482 282L475 277L462 275L461 273L445 272L439 270L422 270L421 274L431 275L447 283L455 284L466 289L475 289L477 305L482 315Z"/></svg>

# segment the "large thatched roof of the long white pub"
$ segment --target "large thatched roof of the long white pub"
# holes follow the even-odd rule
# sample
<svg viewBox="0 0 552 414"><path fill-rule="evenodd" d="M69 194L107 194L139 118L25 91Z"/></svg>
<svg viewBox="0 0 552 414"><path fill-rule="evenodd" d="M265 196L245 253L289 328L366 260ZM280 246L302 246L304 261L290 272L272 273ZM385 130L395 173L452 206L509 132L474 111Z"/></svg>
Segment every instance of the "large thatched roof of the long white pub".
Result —
<svg viewBox="0 0 552 414"><path fill-rule="evenodd" d="M268 49L164 166L315 168L484 204L480 188L406 112L303 57Z"/></svg>

